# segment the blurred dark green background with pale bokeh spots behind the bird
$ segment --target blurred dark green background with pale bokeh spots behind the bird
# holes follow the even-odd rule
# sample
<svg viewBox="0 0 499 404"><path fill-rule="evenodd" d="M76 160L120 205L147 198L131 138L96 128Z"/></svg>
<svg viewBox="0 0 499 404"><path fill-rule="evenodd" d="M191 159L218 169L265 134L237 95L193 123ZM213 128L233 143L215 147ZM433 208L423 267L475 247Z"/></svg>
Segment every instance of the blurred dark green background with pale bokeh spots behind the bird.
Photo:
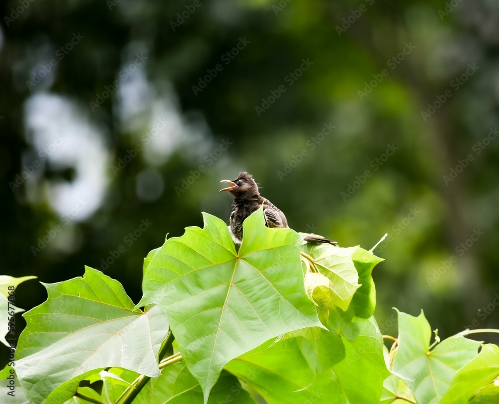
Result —
<svg viewBox="0 0 499 404"><path fill-rule="evenodd" d="M147 253L202 211L228 220L219 181L248 170L295 230L367 250L389 234L383 333L392 307L442 337L499 327L497 1L0 10L2 274L88 265L138 301ZM16 292L45 298L35 280Z"/></svg>

